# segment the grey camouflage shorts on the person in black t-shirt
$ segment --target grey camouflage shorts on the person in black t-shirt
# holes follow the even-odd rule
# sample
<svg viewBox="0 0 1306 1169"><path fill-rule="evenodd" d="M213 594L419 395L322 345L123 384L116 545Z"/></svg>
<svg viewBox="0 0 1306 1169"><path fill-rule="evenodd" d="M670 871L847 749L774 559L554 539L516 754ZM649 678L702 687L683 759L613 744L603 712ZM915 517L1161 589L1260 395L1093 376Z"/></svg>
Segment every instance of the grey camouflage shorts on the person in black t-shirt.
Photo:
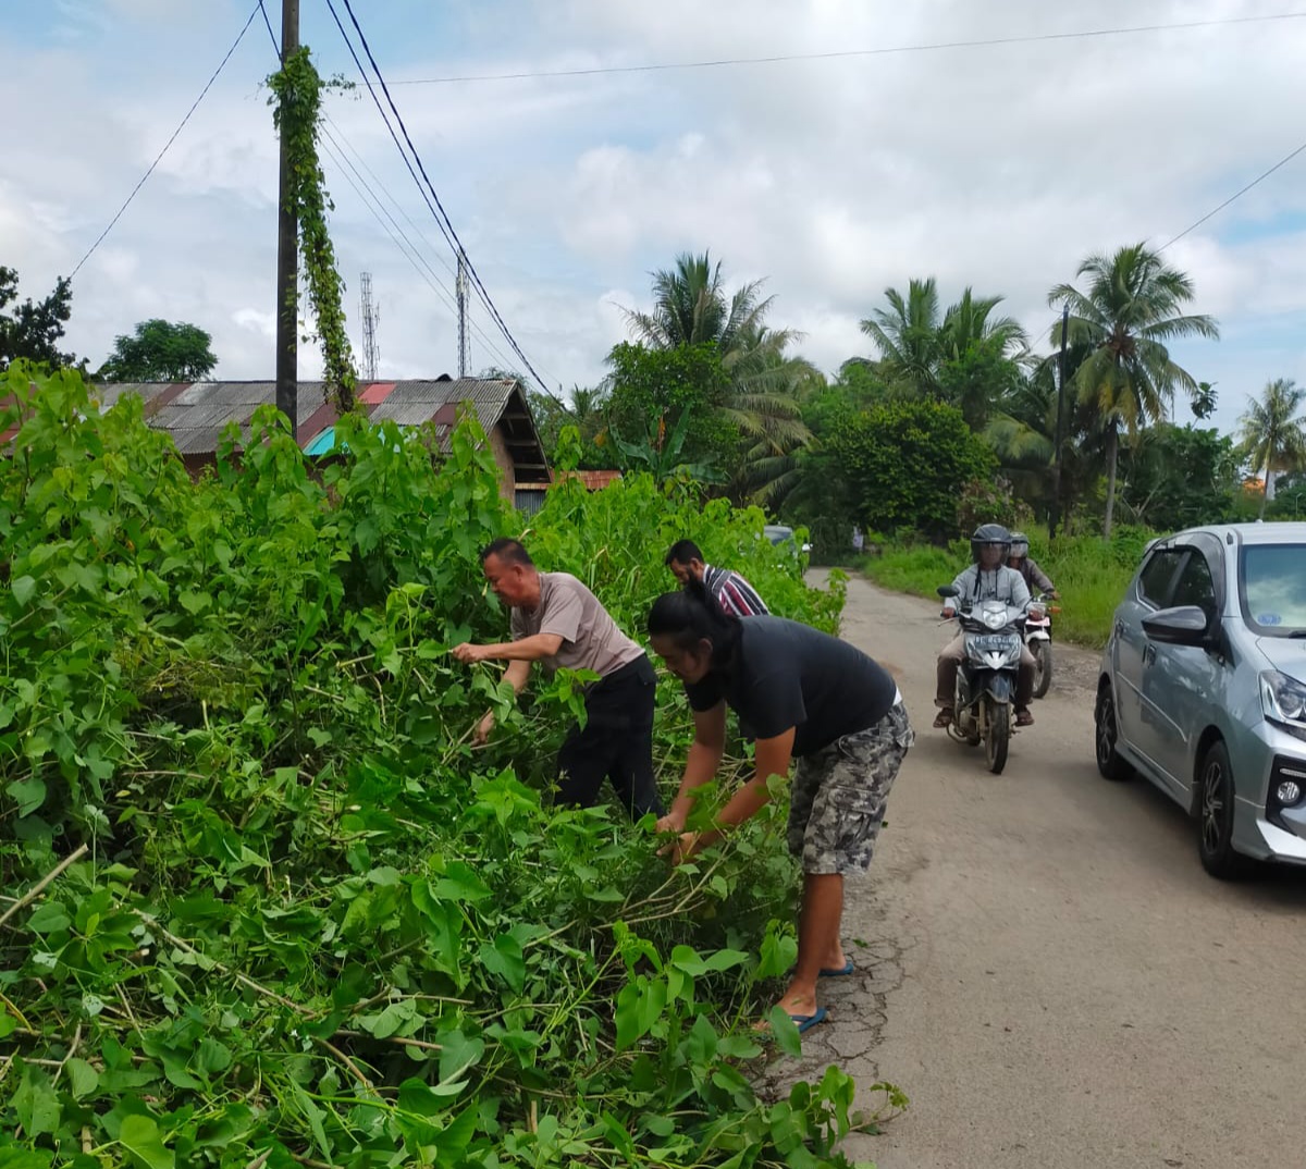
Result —
<svg viewBox="0 0 1306 1169"><path fill-rule="evenodd" d="M916 741L896 703L875 726L798 760L789 805L789 852L803 873L858 874L871 865L884 803Z"/></svg>

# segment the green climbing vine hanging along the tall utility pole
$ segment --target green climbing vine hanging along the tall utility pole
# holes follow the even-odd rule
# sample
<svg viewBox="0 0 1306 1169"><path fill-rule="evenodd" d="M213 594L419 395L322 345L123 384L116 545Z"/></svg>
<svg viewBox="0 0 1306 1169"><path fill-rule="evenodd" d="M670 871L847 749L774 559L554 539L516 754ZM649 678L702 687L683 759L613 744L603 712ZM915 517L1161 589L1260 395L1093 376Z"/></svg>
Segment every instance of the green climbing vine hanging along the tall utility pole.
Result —
<svg viewBox="0 0 1306 1169"><path fill-rule="evenodd" d="M326 193L326 176L317 157L323 80L310 60L308 48L298 48L281 71L268 78L268 85L272 89L268 102L273 107L272 120L290 161L286 209L299 225L299 252L304 261L308 300L317 317L326 397L334 401L341 414L347 414L354 409L358 374L345 332L343 282L336 269L336 248L326 229L326 213L336 205ZM298 312L298 290L290 296L290 307Z"/></svg>

